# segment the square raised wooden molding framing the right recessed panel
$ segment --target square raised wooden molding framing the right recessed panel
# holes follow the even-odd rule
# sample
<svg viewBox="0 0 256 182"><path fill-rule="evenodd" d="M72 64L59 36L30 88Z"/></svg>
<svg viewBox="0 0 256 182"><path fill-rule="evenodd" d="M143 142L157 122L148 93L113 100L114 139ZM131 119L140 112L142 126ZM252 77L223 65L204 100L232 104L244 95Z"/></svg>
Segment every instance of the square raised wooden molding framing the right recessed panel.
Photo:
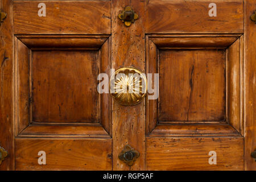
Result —
<svg viewBox="0 0 256 182"><path fill-rule="evenodd" d="M207 116L207 113L204 111L204 105L202 102L199 102L195 109L203 109L202 117L200 115L195 115L195 119L183 121L182 119L163 119L163 113L159 111L159 106L164 102L160 100L147 100L146 102L146 131L147 135L150 137L179 137L179 136L241 136L243 135L243 119L241 113L243 111L243 97L242 92L240 91L240 85L243 84L242 80L242 69L243 69L243 36L241 34L197 34L197 35L175 35L175 34L153 34L147 35L146 37L146 73L159 73L159 59L161 51L194 51L199 52L203 50L207 52L208 50L222 51L222 59L224 59L221 67L224 69L222 76L216 78L224 78L222 81L224 84L224 100L222 101L223 111L222 117L220 115L219 119L203 119L203 116ZM217 52L216 52L217 53ZM209 54L207 55L209 56ZM214 56L214 55L212 55ZM200 58L199 58L200 59ZM185 59L187 60L187 59ZM184 61L185 61L184 60ZM210 57L209 57L210 60ZM220 60L220 59L218 59ZM177 62L179 63L179 62ZM202 62L203 63L203 62ZM168 68L172 68L174 65L165 65ZM212 65L208 69L212 69L215 65ZM181 67L180 67L181 68ZM182 71L183 69L179 69ZM202 71L202 70L201 70ZM209 71L208 71L209 72ZM170 72L171 73L171 72ZM215 73L215 72L214 72ZM167 73L164 73L167 74ZM177 72L178 74L178 72ZM184 73L185 74L185 73ZM183 74L183 75L184 75ZM198 74L196 75L198 77ZM172 78L177 76L173 75ZM205 79L205 76L202 77ZM163 76L159 78L159 83L161 83ZM168 79L168 78L165 78ZM184 81L181 79L179 82L176 82L176 86L179 86L180 82ZM221 84L221 80L217 79L216 84ZM189 84L189 83L188 83ZM152 83L154 85L154 81ZM168 84L167 84L168 85ZM166 86L167 86L166 85ZM176 86L167 86L166 92L172 93L171 90L176 90ZM200 86L200 83L198 84ZM216 86L215 86L216 87ZM198 90L199 88L193 88ZM205 89L205 88L204 88ZM223 89L222 89L223 90ZM161 88L160 88L161 92ZM182 90L180 90L182 92ZM184 90L185 92L185 90ZM198 91L197 91L198 92ZM218 94L221 92L221 89L217 89L216 92L210 92L211 94ZM166 93L167 95L170 93ZM208 93L207 96L210 94ZM173 93L172 93L173 94ZM161 93L159 94L161 96ZM191 95L192 96L192 95ZM203 96L201 96L203 97ZM207 98L207 97L206 97ZM196 98L195 98L196 99ZM199 101L196 99L192 104L196 106L196 102ZM172 101L168 101L172 102ZM183 103L182 101L180 101ZM204 103L204 102L203 102ZM184 103L185 104L185 103ZM205 106L208 105L208 102L205 102ZM179 105L180 106L180 105ZM184 105L186 106L186 104ZM163 107L166 109L166 107ZM175 108L175 107L174 107ZM208 108L205 107L205 108ZM209 108L210 109L210 108ZM213 106L209 111L214 116L219 106ZM215 111L214 111L215 110ZM178 110L180 111L180 109ZM195 110L197 111L197 110ZM166 112L167 118L170 117L171 112ZM205 115L206 114L206 115ZM215 113L216 114L216 113ZM202 119L199 119L202 118Z"/></svg>

